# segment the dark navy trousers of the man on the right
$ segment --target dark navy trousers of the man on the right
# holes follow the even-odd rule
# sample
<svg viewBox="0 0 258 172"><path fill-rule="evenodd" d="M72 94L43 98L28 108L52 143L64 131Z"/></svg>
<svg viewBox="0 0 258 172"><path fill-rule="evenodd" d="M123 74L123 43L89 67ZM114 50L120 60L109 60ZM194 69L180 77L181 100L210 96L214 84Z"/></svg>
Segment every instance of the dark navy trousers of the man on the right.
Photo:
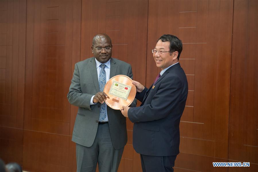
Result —
<svg viewBox="0 0 258 172"><path fill-rule="evenodd" d="M173 172L176 156L141 156L143 172Z"/></svg>

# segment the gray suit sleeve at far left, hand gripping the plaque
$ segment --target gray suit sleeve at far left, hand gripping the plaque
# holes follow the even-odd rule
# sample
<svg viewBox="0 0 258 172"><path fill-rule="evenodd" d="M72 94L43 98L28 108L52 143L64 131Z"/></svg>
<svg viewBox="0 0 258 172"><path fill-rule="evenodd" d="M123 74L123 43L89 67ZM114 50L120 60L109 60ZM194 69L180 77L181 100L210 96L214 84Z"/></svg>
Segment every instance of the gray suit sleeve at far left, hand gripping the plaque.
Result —
<svg viewBox="0 0 258 172"><path fill-rule="evenodd" d="M75 64L73 78L71 80L71 85L69 88L69 92L67 94L69 103L71 103L74 106L84 107L91 111L90 100L92 96L94 95L82 93L81 84L80 84L80 74L79 74L78 66L77 64Z"/></svg>

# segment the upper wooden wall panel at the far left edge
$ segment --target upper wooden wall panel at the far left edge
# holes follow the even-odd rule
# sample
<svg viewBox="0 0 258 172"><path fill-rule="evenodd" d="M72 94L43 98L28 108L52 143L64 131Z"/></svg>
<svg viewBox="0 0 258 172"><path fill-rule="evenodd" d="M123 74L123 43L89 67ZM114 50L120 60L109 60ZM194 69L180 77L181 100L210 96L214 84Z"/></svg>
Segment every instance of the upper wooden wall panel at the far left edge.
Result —
<svg viewBox="0 0 258 172"><path fill-rule="evenodd" d="M23 127L26 2L1 1L0 125Z"/></svg>

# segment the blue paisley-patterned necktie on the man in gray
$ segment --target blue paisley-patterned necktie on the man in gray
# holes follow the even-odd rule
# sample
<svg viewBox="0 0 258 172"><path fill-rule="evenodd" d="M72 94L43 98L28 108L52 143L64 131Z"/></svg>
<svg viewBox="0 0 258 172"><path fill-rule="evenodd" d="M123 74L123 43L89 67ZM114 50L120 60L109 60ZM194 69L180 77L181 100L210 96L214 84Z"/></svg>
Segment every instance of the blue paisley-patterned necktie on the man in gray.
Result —
<svg viewBox="0 0 258 172"><path fill-rule="evenodd" d="M102 92L106 84L106 71L105 71L106 65L102 64L100 65L100 67L101 67L101 70L100 70L99 79L98 79L98 86L99 86L100 92ZM106 118L106 103L104 102L103 104L101 104L101 107L100 107L99 121L103 121L105 118Z"/></svg>

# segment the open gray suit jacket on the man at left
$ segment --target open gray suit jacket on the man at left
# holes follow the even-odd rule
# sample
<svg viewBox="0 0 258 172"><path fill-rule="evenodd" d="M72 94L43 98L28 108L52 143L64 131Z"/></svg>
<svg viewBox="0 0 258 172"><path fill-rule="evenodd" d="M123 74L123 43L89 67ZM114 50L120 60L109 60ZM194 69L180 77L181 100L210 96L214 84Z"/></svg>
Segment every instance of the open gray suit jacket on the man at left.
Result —
<svg viewBox="0 0 258 172"><path fill-rule="evenodd" d="M110 58L110 77L126 75L133 79L131 65L124 61ZM95 58L89 58L75 64L71 86L67 94L69 103L78 106L78 113L73 128L72 141L90 147L98 130L100 103L90 106L90 99L99 92ZM136 99L131 104L136 105ZM126 118L121 111L107 106L108 124L112 143L120 149L127 142Z"/></svg>

